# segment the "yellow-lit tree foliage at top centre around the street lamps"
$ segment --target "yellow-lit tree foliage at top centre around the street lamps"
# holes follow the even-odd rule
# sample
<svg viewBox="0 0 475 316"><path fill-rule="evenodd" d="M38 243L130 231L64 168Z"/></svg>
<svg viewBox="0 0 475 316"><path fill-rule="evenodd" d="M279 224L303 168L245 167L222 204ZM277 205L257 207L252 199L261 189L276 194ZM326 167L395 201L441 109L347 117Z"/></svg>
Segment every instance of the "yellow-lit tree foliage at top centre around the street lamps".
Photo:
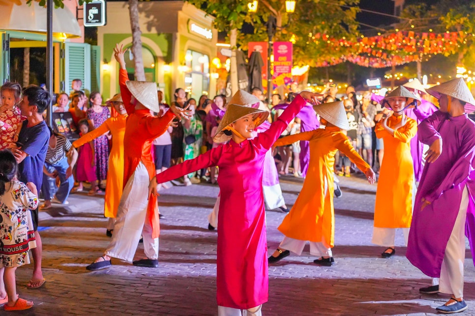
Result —
<svg viewBox="0 0 475 316"><path fill-rule="evenodd" d="M231 28L240 29L243 23L253 26L253 33L238 34L238 46L247 49L251 41L267 41L267 21L274 16L277 27L274 41L293 41L296 63L315 64L316 60L340 57L347 48L328 49L316 41L316 34L347 39L358 36L356 13L359 0L298 0L294 13L285 12L285 1L259 0L257 12L248 12L248 0L190 0L198 8L213 15L215 27L229 34Z"/></svg>

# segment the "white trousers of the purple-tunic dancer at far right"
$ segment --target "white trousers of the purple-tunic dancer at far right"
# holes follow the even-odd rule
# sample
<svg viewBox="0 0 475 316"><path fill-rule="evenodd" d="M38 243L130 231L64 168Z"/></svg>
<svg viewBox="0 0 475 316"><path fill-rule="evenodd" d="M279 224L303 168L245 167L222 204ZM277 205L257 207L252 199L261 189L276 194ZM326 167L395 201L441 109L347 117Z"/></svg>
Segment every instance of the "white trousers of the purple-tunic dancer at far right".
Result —
<svg viewBox="0 0 475 316"><path fill-rule="evenodd" d="M439 284L439 292L453 294L455 298L464 296L465 218L468 205L469 197L465 187L460 209L445 248L441 277L432 279L432 285Z"/></svg>

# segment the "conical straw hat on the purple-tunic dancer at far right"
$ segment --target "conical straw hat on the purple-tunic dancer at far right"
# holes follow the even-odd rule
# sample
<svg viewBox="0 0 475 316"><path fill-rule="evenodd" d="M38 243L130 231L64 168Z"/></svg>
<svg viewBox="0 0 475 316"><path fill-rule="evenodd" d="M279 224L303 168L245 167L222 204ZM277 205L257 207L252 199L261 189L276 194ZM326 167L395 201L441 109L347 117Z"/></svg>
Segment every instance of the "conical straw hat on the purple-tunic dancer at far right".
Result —
<svg viewBox="0 0 475 316"><path fill-rule="evenodd" d="M437 100L440 99L441 94L445 94L452 98L466 102L467 104L465 105L465 111L467 113L472 113L475 111L474 96L470 92L470 89L463 78L457 78L439 85L435 85L427 89L427 93L435 97Z"/></svg>

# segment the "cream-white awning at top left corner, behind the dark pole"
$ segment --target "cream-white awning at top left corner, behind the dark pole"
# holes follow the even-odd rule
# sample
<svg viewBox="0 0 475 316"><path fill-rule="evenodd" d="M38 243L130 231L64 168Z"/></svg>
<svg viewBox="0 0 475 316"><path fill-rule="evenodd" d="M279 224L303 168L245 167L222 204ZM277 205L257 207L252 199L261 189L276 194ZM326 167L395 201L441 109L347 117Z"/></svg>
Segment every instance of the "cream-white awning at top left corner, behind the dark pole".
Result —
<svg viewBox="0 0 475 316"><path fill-rule="evenodd" d="M46 8L26 0L0 0L0 29L46 33ZM21 4L19 4L21 3ZM53 34L57 37L80 37L81 28L67 8L53 9Z"/></svg>

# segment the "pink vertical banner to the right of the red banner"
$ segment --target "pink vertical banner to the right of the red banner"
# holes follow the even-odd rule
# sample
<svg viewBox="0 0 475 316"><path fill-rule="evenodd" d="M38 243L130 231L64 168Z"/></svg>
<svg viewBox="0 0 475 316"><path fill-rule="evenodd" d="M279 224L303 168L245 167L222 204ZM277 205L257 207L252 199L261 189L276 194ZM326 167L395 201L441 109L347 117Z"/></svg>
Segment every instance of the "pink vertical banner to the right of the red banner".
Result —
<svg viewBox="0 0 475 316"><path fill-rule="evenodd" d="M292 42L274 43L273 89L292 82Z"/></svg>

